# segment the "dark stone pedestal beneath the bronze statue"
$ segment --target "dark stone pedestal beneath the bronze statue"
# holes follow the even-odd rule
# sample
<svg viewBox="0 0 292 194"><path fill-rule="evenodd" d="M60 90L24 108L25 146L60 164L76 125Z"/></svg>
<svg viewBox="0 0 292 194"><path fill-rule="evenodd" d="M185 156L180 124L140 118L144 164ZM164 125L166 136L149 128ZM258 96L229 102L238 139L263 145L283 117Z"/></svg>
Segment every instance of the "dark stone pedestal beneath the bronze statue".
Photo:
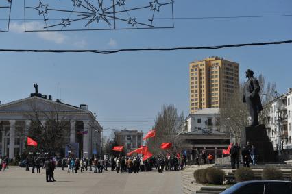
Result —
<svg viewBox="0 0 292 194"><path fill-rule="evenodd" d="M241 132L241 149L249 141L258 151L258 162L275 162L276 154L273 151L273 144L267 136L265 125L258 125L256 127L247 127Z"/></svg>

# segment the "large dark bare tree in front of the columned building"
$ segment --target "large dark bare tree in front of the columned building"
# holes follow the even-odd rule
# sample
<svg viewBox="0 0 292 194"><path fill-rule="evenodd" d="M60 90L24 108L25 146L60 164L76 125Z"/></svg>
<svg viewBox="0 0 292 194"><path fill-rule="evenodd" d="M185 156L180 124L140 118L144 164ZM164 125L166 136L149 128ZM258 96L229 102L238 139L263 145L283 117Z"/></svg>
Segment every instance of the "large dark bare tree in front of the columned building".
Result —
<svg viewBox="0 0 292 194"><path fill-rule="evenodd" d="M69 143L71 114L60 104L50 104L45 108L30 103L32 112L27 113L31 121L28 136L38 142L38 151L62 152Z"/></svg>

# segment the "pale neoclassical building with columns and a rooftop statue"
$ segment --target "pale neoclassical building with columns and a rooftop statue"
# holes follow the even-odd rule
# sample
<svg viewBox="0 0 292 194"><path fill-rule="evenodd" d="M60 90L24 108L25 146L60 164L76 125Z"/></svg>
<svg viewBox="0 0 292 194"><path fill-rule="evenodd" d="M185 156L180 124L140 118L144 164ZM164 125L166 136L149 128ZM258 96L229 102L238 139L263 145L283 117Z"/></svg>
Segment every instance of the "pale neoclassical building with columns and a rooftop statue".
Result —
<svg viewBox="0 0 292 194"><path fill-rule="evenodd" d="M12 101L0 105L0 156L14 158L25 149L25 139L34 120L40 120L42 126L48 123L48 117L52 108L56 112L58 107L58 118L68 123L68 135L64 136L64 143L61 149L63 154L75 152L76 156L91 157L93 154L101 155L101 125L96 120L95 114L82 104L80 107L65 104L51 96L47 97L38 93L31 94L31 97ZM32 117L39 110L38 118ZM76 146L77 145L77 146ZM69 148L68 148L69 147ZM77 147L71 150L70 147ZM67 152L67 153L66 153Z"/></svg>

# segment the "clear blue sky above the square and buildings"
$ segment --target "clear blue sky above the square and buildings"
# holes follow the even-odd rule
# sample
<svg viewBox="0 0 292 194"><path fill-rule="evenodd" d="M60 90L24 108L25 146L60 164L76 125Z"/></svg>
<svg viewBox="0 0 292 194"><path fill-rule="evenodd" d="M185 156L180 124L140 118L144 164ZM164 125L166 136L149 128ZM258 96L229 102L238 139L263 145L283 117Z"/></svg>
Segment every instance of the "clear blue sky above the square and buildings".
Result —
<svg viewBox="0 0 292 194"><path fill-rule="evenodd" d="M31 0L32 1L32 0ZM69 0L68 0L69 1ZM127 2L127 1L125 1ZM292 1L175 1L175 17L292 14ZM128 49L226 45L292 40L292 17L175 19L174 29L90 32L23 32L23 1L14 1L10 32L0 33L0 49ZM56 16L58 17L58 16ZM94 53L0 53L1 104L39 91L88 108L108 128L151 129L163 104L188 114L188 64L208 56L253 69L279 93L291 83L292 44L194 51ZM108 134L108 132L107 132Z"/></svg>

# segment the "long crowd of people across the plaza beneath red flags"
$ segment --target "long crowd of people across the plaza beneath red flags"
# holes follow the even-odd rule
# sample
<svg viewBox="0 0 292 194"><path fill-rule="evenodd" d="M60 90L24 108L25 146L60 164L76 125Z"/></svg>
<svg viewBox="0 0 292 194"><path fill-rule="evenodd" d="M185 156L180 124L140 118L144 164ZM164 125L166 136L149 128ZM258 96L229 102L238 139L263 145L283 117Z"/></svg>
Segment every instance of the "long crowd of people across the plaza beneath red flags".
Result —
<svg viewBox="0 0 292 194"><path fill-rule="evenodd" d="M0 162L3 161L2 159ZM3 162L2 162L3 163ZM55 182L54 170L56 167L62 168L67 173L83 173L84 171L92 171L93 173L103 173L111 171L116 173L141 173L156 169L159 173L164 171L179 171L186 166L186 156L157 156L143 160L143 156L110 156L106 158L62 158L57 160L56 157L33 156L26 158L25 170L32 173L40 173L40 169L46 171L46 181Z"/></svg>

